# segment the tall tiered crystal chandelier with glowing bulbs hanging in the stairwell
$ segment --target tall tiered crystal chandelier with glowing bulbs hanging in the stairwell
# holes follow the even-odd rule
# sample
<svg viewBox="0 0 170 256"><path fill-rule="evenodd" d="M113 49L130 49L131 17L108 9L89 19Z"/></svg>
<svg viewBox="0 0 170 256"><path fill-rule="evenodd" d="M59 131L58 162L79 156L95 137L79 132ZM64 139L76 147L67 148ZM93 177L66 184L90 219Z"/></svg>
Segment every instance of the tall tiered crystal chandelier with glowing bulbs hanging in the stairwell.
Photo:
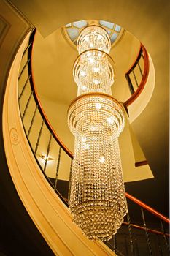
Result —
<svg viewBox="0 0 170 256"><path fill-rule="evenodd" d="M127 213L118 144L124 113L112 97L110 48L100 26L81 31L73 71L78 92L68 110L75 136L69 208L85 236L101 241L112 238Z"/></svg>

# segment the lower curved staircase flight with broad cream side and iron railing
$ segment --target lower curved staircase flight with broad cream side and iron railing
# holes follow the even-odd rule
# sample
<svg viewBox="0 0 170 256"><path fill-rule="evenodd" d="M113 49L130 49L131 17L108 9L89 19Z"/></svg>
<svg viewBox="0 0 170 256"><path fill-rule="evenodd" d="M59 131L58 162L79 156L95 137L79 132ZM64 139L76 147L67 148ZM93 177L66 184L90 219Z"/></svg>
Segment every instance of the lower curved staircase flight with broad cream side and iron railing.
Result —
<svg viewBox="0 0 170 256"><path fill-rule="evenodd" d="M134 202L135 207L141 211L142 224L133 223L129 211L127 220L123 228L121 227L123 231L120 228L107 246L99 241L88 241L81 230L72 223L72 216L67 208L70 185L68 181L64 183L67 187L68 193L66 193L66 187L62 187L58 173L62 168L67 167L69 176L72 176L73 156L55 134L36 93L31 72L34 32L28 34L12 64L7 81L3 116L4 145L9 170L31 219L34 220L55 255L82 255L82 252L83 255L140 255L140 253L154 255L158 249L160 253L166 255L169 252L167 241L169 234L166 233L166 223L169 223L169 219L128 193L126 193L128 200ZM139 54L142 56L141 51ZM147 56L146 52L145 56ZM147 79L147 75L145 77ZM142 80L146 83L144 79ZM127 102L125 102L126 109L129 105ZM44 156L41 154L42 151L45 152ZM65 154L64 163L63 154ZM50 159L51 155L53 159ZM51 178L50 161L55 162L55 178ZM153 214L153 218L157 217L158 221L161 220L160 227L157 229L147 227L145 219L147 212ZM141 236L145 236L142 247ZM158 248L155 246L155 239L159 241Z"/></svg>

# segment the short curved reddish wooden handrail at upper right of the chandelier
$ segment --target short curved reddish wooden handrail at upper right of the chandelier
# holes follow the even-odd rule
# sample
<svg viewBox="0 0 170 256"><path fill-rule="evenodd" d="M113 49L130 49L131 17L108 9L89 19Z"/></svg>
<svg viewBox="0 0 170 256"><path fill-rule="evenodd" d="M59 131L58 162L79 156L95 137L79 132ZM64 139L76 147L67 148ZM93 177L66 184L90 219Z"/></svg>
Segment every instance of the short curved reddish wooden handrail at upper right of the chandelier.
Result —
<svg viewBox="0 0 170 256"><path fill-rule="evenodd" d="M144 45L141 44L141 48L144 54L144 74L142 76L142 80L141 80L141 83L139 84L138 89L136 89L134 94L132 94L131 97L123 103L125 108L131 105L131 103L133 103L134 100L137 99L137 97L139 97L139 95L142 93L142 90L144 89L144 86L147 82L149 69L150 69L149 56L148 56L147 50L144 48ZM141 51L139 50L139 56L140 56L140 52ZM136 58L136 60L139 59L139 56ZM134 62L133 66L128 70L128 72L126 72L126 74L129 74L129 72L131 72L131 69L134 69L135 66L136 66L136 61Z"/></svg>

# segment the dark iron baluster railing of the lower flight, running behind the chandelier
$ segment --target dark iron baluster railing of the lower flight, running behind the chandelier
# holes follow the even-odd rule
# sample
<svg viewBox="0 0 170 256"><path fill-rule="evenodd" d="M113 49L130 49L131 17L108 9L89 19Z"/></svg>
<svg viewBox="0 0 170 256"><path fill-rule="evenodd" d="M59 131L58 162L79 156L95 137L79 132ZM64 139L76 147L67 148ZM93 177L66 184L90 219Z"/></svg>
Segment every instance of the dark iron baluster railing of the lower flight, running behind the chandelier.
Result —
<svg viewBox="0 0 170 256"><path fill-rule="evenodd" d="M73 155L50 125L34 86L31 58L35 32L34 29L31 33L20 64L18 76L20 117L40 170L63 203L69 206ZM142 58L143 50L142 46L140 53ZM145 53L144 56L146 56ZM52 162L53 165L51 165ZM60 173L66 169L68 170L67 180L63 181ZM127 192L125 194L128 201L128 214L123 225L117 230L117 234L106 243L107 246L120 256L169 255L169 219L136 197Z"/></svg>

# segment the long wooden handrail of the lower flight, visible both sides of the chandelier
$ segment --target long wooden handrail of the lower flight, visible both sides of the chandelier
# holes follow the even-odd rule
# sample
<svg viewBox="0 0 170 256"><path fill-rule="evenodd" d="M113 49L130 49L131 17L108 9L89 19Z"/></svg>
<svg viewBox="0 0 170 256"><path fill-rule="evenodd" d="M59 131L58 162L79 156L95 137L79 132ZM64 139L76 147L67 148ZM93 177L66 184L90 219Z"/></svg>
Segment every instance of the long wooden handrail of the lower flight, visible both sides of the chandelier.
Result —
<svg viewBox="0 0 170 256"><path fill-rule="evenodd" d="M35 37L35 32L36 30L34 30L34 32L31 34L30 40L34 41L34 37ZM58 144L61 146L61 148L63 148L63 151L66 152L66 154L69 155L69 157L71 157L73 159L73 154L71 151L69 151L69 148L67 148L64 143L61 141L61 139L58 137L58 135L56 135L55 130L53 129L53 127L50 124L50 121L48 121L47 116L45 115L45 111L42 108L42 104L39 101L39 97L36 91L36 88L34 86L34 76L33 76L33 70L32 70L32 53L33 53L33 47L34 47L34 43L32 44L31 49L28 49L30 52L28 52L28 54L30 54L31 56L31 61L28 64L28 71L29 74L31 74L31 79L30 79L30 83L31 83L31 89L34 91L34 99L36 104L38 105L39 108L39 112L42 115L42 118L45 121L45 124L47 125L48 129L50 130L50 132L53 134L53 137L55 138L55 140L58 142ZM142 45L142 48L144 48L144 46ZM147 51L144 48L144 56L148 58L147 56ZM145 58L144 57L144 58ZM146 64L146 67L144 68L145 72L148 72L148 64ZM148 74L147 74L148 75ZM146 78L146 75L145 75ZM144 79L142 79L144 80ZM146 81L145 81L146 82ZM125 104L125 103L124 103ZM127 106L126 106L127 107ZM145 208L147 211L150 211L152 214L154 214L156 217L162 219L164 222L170 223L169 219L165 216L163 216L163 214L160 214L158 211L156 211L155 209L151 208L150 206L147 206L147 204L143 203L141 200L138 200L136 197L128 194L127 192L125 192L125 196L128 197L128 199L134 201L134 203L138 204L139 206L141 206L142 208Z"/></svg>

